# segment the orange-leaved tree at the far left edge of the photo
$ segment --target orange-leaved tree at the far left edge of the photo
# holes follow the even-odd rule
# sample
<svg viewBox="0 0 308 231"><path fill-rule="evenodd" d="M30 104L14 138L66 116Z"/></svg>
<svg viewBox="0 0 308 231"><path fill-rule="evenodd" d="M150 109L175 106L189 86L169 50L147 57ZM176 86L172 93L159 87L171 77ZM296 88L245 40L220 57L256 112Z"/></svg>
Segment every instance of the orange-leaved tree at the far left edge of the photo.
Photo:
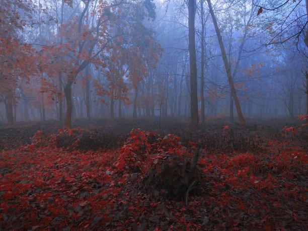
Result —
<svg viewBox="0 0 308 231"><path fill-rule="evenodd" d="M4 0L0 9L0 102L6 107L9 124L14 123L13 106L18 100L17 87L37 72L34 50L21 43L21 33L31 20L31 1ZM24 13L24 19L20 17Z"/></svg>

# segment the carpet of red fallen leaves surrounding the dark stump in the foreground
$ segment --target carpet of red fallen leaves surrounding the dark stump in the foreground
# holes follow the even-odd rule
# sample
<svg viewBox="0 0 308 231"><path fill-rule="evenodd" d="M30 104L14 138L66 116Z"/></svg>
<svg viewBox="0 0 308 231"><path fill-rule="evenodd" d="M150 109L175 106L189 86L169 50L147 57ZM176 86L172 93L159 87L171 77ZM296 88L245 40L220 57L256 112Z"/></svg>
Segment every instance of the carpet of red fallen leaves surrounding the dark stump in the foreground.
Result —
<svg viewBox="0 0 308 231"><path fill-rule="evenodd" d="M176 136L134 130L120 150L104 152L33 141L0 154L1 229L307 229L307 153L287 143L203 156L204 193L185 206L138 180L149 157L181 155Z"/></svg>

